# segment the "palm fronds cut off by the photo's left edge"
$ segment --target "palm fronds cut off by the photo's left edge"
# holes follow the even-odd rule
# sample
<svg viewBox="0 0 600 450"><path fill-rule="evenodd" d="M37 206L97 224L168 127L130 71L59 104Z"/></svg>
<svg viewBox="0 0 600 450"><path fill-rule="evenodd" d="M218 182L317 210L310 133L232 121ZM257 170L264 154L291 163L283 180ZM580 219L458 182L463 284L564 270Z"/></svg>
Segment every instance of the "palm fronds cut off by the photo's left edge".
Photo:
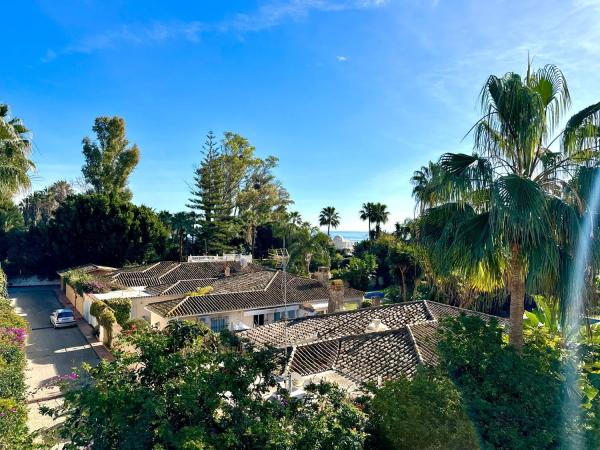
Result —
<svg viewBox="0 0 600 450"><path fill-rule="evenodd" d="M20 119L10 118L8 105L0 104L0 195L11 198L31 185L29 130Z"/></svg>

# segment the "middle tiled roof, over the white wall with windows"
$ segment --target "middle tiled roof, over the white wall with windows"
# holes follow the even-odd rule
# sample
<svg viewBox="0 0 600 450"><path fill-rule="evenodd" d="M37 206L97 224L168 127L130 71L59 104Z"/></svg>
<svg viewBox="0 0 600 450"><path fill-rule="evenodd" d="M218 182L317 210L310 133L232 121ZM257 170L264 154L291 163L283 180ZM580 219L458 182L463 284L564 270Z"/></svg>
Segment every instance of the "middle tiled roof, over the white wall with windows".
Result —
<svg viewBox="0 0 600 450"><path fill-rule="evenodd" d="M147 308L162 317L199 316L215 312L283 306L283 273L252 272L216 280L215 290L203 296L156 302ZM327 289L316 280L286 275L287 304L298 305L329 299ZM348 289L345 298L360 298L362 292Z"/></svg>

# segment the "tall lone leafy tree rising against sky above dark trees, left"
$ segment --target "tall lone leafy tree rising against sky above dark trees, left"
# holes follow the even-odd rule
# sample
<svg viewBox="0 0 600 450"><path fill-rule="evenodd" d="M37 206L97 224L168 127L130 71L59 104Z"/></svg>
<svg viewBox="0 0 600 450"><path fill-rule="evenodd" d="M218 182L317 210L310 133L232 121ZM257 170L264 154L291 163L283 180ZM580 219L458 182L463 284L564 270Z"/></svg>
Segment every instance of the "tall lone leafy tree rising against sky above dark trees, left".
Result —
<svg viewBox="0 0 600 450"><path fill-rule="evenodd" d="M120 117L97 117L92 130L97 142L83 139L82 168L85 181L97 194L131 199L127 179L140 159L137 145L129 146L125 135L125 120Z"/></svg>

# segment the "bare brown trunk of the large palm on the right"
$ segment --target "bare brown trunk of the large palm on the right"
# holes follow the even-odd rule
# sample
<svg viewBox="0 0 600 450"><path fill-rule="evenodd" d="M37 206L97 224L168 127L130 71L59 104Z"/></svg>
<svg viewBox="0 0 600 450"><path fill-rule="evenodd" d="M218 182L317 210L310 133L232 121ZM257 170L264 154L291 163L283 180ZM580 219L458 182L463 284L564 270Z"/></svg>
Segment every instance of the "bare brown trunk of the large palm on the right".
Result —
<svg viewBox="0 0 600 450"><path fill-rule="evenodd" d="M523 312L525 311L525 275L519 256L519 246L513 244L508 275L508 289L510 292L510 333L508 342L517 350L523 348Z"/></svg>

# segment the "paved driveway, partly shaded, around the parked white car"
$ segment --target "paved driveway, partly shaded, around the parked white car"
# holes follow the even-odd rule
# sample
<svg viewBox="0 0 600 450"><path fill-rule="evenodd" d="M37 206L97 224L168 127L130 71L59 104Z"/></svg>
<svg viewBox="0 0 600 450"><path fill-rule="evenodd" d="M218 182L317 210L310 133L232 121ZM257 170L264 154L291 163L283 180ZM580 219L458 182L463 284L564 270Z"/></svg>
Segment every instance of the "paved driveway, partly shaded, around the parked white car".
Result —
<svg viewBox="0 0 600 450"><path fill-rule="evenodd" d="M26 382L29 388L29 426L31 430L52 426L52 419L41 416L38 406L56 406L60 399L57 388L42 388L44 382L57 375L71 373L83 362L95 365L98 357L78 327L54 329L50 313L62 305L52 288L14 288L8 292L17 312L29 322Z"/></svg>

